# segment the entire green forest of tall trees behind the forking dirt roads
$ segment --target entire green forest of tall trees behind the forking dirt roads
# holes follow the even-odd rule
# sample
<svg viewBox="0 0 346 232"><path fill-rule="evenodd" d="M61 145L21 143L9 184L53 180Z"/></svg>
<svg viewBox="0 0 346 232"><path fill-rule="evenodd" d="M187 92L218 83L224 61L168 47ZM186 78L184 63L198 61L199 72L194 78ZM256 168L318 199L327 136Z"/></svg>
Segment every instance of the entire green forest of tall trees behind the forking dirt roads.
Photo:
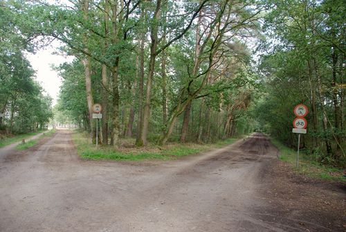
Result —
<svg viewBox="0 0 346 232"><path fill-rule="evenodd" d="M345 161L343 1L14 0L0 10L6 130L52 117L23 53L58 39L75 60L56 67L54 110L94 142L100 103L100 143L115 149L120 137L213 143L253 130L294 147L293 107L302 103L302 148L322 163Z"/></svg>

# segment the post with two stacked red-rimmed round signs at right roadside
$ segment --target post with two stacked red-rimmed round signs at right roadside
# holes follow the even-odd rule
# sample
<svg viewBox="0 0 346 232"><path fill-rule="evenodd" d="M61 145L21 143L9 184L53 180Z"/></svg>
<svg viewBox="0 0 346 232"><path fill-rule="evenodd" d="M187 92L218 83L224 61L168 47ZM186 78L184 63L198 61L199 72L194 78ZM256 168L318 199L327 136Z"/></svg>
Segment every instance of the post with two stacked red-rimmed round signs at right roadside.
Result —
<svg viewBox="0 0 346 232"><path fill-rule="evenodd" d="M307 134L307 120L304 118L309 112L306 105L296 105L293 112L297 118L293 120L293 133L298 133L298 148L297 148L297 161L296 167L299 168L299 147L300 147L300 134Z"/></svg>

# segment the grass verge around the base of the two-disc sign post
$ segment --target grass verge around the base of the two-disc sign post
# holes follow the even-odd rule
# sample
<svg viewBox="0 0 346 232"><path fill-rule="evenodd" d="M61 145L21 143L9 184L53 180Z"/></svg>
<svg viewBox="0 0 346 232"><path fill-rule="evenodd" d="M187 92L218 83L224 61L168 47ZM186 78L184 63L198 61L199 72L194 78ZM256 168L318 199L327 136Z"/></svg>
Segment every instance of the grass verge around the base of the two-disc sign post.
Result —
<svg viewBox="0 0 346 232"><path fill-rule="evenodd" d="M271 141L280 151L280 160L291 163L294 167L293 170L300 174L313 179L332 180L332 181L346 181L343 175L343 170L331 166L322 166L320 163L313 160L309 154L304 151L299 153L299 168L295 168L297 160L297 151L287 148L285 145L273 139Z"/></svg>

